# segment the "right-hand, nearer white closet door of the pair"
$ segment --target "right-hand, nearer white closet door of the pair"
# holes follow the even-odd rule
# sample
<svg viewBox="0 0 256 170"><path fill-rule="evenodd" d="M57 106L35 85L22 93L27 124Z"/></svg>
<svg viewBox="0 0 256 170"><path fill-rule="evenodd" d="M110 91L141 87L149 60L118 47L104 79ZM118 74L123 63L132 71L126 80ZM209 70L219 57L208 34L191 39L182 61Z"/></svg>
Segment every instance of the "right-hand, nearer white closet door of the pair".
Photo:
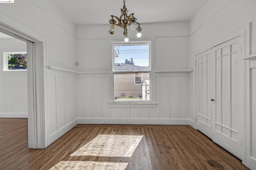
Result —
<svg viewBox="0 0 256 170"><path fill-rule="evenodd" d="M215 93L212 140L241 158L241 127L243 113L243 64L241 37L212 49Z"/></svg>

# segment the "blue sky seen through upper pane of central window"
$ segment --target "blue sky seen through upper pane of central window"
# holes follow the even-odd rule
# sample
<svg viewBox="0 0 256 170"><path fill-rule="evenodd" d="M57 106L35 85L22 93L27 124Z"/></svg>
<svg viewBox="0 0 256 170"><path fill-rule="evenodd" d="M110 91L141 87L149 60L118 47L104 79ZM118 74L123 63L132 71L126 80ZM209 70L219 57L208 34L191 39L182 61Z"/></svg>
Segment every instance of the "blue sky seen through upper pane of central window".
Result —
<svg viewBox="0 0 256 170"><path fill-rule="evenodd" d="M149 45L115 46L114 50L116 54L119 51L118 57L115 58L115 63L124 63L125 59L130 60L132 58L136 66L149 65Z"/></svg>

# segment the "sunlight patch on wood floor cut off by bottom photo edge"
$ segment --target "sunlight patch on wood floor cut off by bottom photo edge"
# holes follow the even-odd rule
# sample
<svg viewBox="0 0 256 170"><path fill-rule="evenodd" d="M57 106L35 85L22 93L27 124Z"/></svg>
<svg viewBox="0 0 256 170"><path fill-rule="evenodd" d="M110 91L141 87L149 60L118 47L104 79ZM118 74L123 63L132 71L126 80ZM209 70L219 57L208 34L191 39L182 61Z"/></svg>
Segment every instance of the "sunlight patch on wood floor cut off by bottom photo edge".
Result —
<svg viewBox="0 0 256 170"><path fill-rule="evenodd" d="M60 161L50 170L125 170L125 162Z"/></svg>

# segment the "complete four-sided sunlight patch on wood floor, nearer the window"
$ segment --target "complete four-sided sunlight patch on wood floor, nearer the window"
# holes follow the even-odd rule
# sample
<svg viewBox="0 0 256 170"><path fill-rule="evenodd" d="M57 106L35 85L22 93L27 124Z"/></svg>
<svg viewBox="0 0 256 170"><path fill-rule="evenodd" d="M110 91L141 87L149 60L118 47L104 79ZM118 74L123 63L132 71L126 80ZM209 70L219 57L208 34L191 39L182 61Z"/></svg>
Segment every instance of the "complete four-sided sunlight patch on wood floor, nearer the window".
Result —
<svg viewBox="0 0 256 170"><path fill-rule="evenodd" d="M143 136L98 135L70 156L131 157Z"/></svg>

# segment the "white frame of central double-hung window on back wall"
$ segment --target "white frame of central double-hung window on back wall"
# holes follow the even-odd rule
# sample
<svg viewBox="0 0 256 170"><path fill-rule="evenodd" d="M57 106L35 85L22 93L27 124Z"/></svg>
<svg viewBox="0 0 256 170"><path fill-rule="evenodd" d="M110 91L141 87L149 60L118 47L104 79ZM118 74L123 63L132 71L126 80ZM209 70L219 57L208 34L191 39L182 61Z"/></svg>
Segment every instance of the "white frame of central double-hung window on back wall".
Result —
<svg viewBox="0 0 256 170"><path fill-rule="evenodd" d="M115 59L114 59L114 45L129 45L129 44L132 44L132 45L142 45L142 44L148 44L149 45L149 70L130 70L130 71L115 71ZM114 74L115 73L138 73L138 72L149 72L149 82L151 84L151 81L152 81L152 67L151 67L151 51L152 51L152 43L151 41L130 41L128 43L125 43L125 42L112 42L112 45L111 45L111 48L112 48L112 55L111 55L111 58L112 58L112 102L111 103L127 103L127 104L132 104L132 103L152 103L152 93L151 93L151 87L150 86L150 100L115 100L115 85L114 85ZM134 74L134 78L135 78L135 74ZM134 80L135 81L135 80Z"/></svg>

